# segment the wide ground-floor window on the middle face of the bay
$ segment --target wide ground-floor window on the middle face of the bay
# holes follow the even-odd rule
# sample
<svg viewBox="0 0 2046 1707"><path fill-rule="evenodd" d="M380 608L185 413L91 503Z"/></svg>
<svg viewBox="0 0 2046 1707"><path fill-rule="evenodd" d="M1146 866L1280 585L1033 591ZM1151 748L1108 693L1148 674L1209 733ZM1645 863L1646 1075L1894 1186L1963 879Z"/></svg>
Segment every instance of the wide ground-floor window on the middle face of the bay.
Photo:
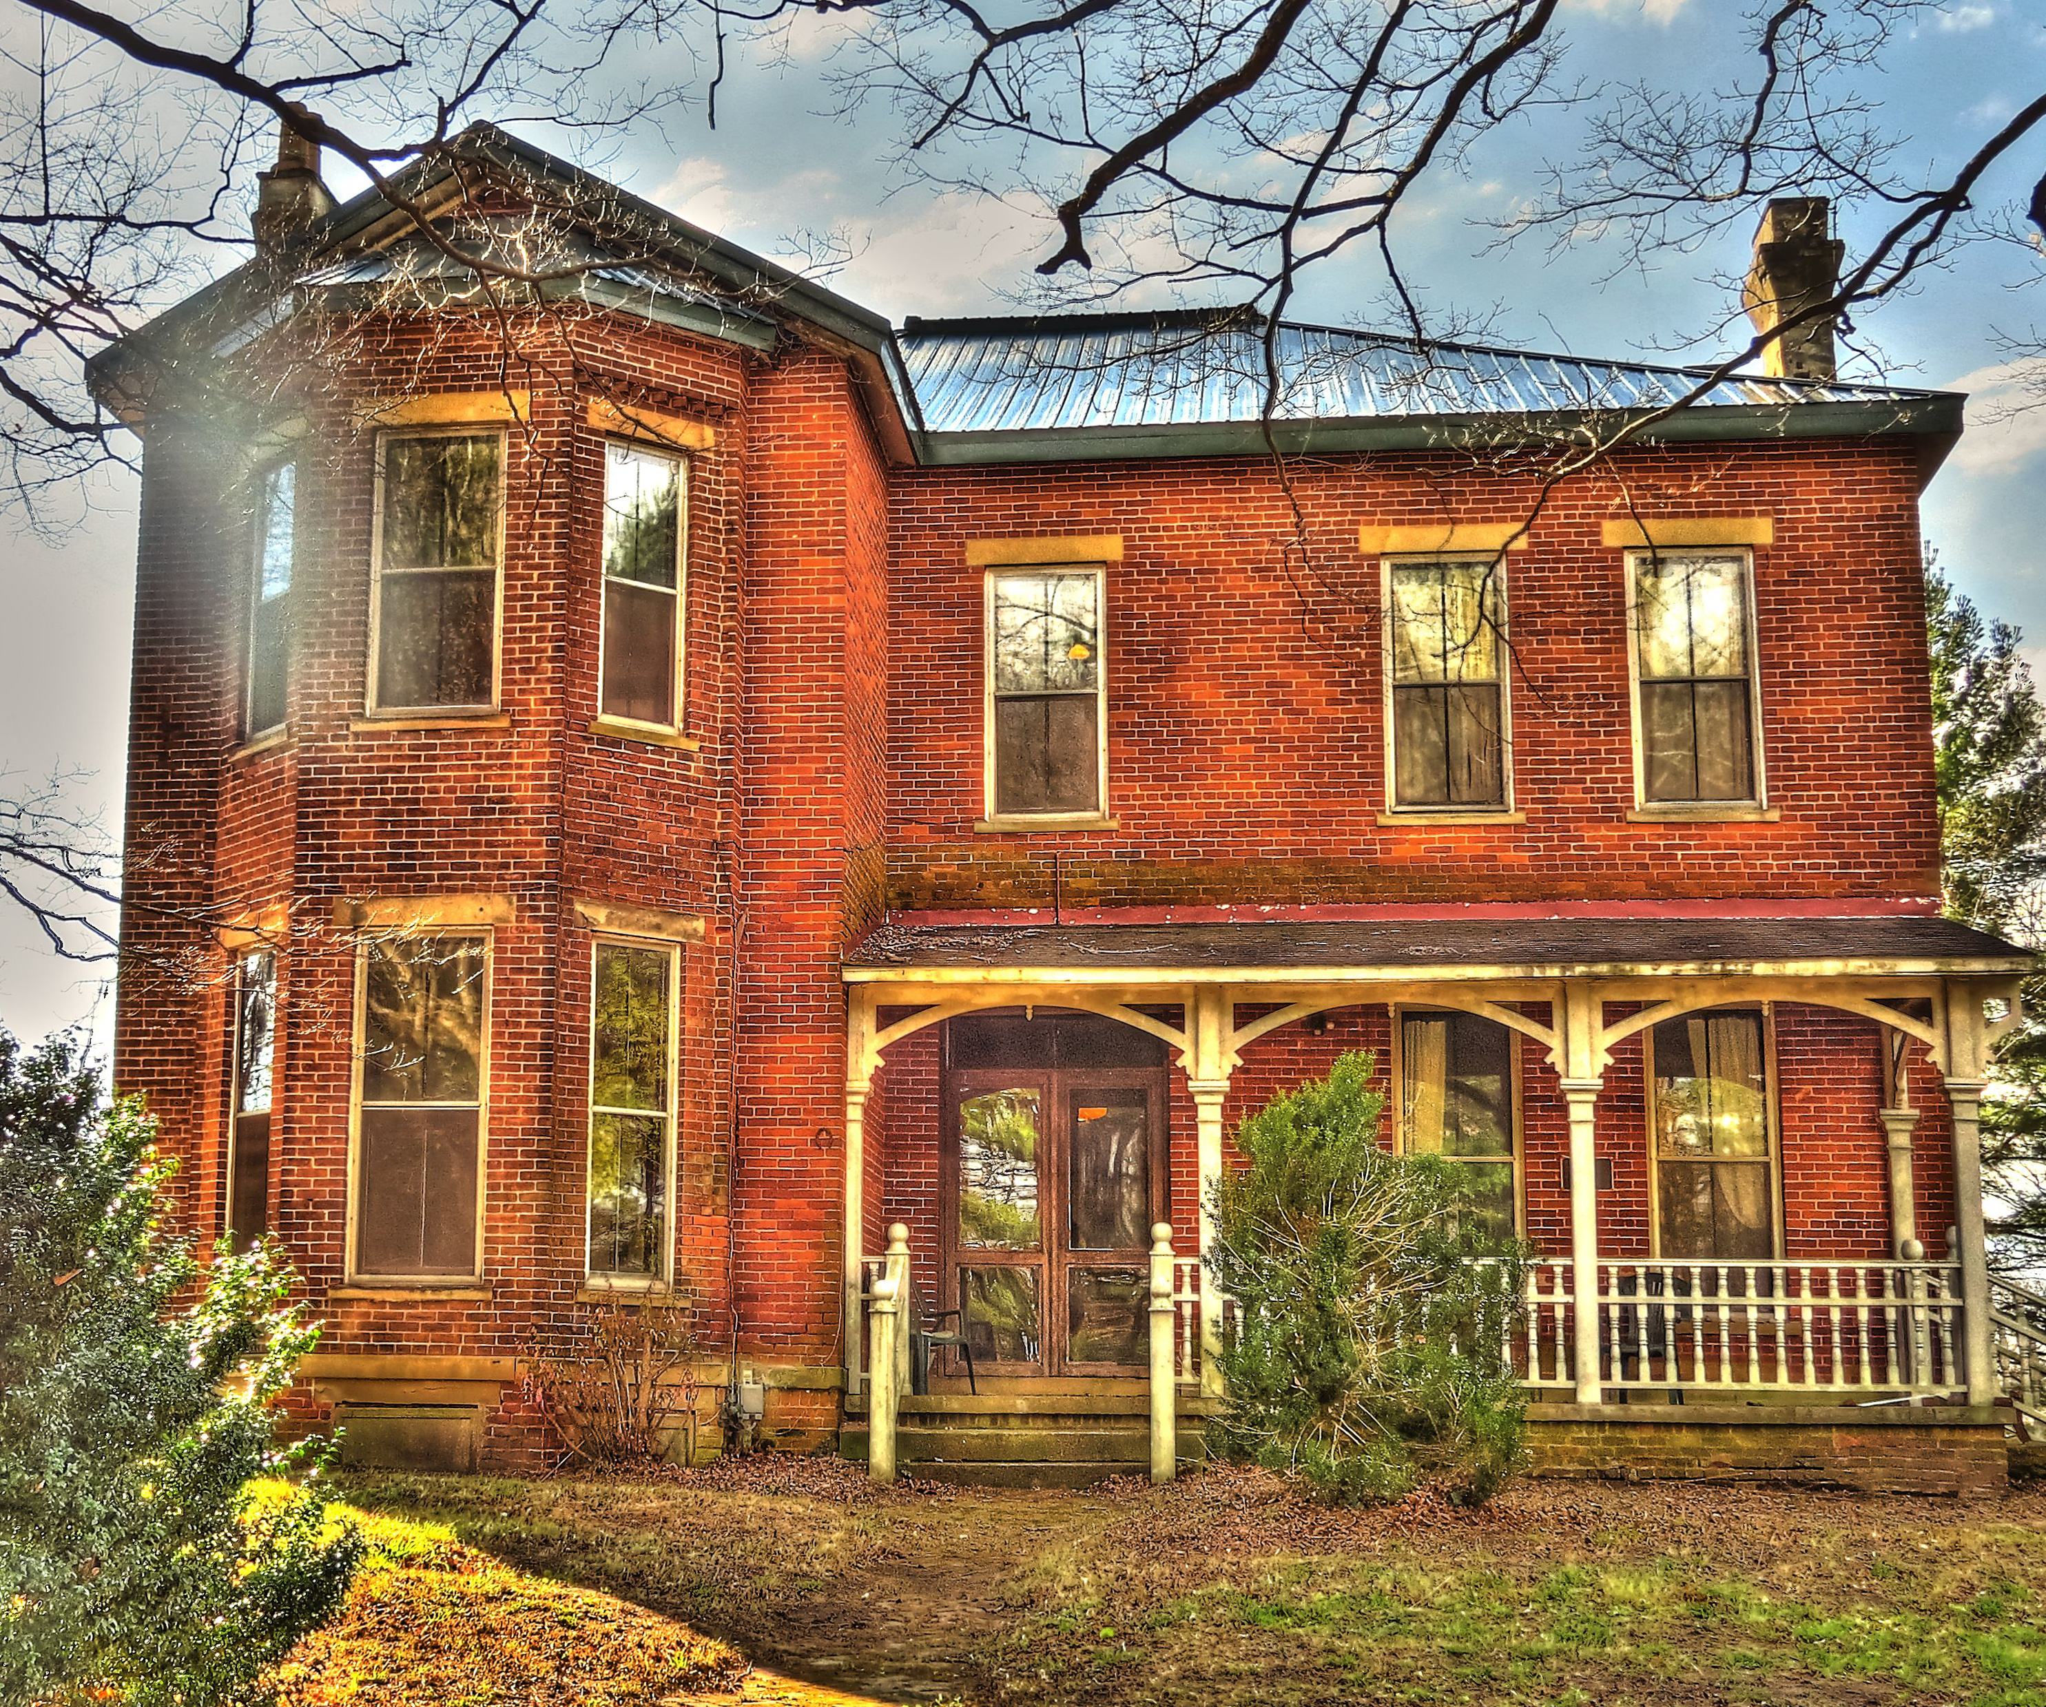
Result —
<svg viewBox="0 0 2046 1707"><path fill-rule="evenodd" d="M358 1274L479 1272L487 965L479 934L364 944Z"/></svg>

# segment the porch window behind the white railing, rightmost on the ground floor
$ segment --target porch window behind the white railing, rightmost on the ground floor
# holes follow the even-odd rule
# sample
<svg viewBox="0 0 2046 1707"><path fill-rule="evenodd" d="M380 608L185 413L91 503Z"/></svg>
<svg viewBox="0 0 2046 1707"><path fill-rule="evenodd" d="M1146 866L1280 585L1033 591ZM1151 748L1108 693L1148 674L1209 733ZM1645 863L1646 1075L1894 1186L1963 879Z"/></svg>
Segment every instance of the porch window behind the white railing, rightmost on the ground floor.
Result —
<svg viewBox="0 0 2046 1707"><path fill-rule="evenodd" d="M1659 1255L1774 1257L1762 1014L1663 1020L1649 1047Z"/></svg>

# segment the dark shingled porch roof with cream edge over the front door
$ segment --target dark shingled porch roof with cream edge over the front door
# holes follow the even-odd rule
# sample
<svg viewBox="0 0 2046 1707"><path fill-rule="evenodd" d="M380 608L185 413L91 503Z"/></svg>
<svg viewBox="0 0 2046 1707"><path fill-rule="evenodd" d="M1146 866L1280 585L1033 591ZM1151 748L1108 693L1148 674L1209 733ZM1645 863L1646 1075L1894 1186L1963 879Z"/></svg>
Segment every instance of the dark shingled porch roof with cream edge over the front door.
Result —
<svg viewBox="0 0 2046 1707"><path fill-rule="evenodd" d="M1387 918L884 924L847 983L1236 983L1428 977L2013 975L2034 957L1950 918Z"/></svg>

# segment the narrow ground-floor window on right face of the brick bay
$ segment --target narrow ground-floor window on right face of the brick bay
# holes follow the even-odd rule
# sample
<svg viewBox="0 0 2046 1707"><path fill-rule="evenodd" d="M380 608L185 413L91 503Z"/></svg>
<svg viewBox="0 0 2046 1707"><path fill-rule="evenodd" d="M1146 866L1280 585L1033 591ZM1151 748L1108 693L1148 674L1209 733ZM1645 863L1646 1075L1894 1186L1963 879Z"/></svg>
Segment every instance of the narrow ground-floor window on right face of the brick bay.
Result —
<svg viewBox="0 0 2046 1707"><path fill-rule="evenodd" d="M597 942L589 1036L589 1272L667 1274L675 951Z"/></svg>

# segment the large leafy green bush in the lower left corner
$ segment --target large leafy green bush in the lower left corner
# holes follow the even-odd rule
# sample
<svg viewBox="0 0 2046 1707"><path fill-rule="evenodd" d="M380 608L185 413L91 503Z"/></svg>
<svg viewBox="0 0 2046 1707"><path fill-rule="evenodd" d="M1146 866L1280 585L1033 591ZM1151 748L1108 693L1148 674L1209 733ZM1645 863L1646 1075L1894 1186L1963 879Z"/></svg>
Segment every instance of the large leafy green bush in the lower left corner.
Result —
<svg viewBox="0 0 2046 1707"><path fill-rule="evenodd" d="M268 1400L317 1335L274 1247L201 1263L170 1163L78 1051L0 1032L0 1701L246 1701L360 1558L307 1484L260 1503Z"/></svg>

